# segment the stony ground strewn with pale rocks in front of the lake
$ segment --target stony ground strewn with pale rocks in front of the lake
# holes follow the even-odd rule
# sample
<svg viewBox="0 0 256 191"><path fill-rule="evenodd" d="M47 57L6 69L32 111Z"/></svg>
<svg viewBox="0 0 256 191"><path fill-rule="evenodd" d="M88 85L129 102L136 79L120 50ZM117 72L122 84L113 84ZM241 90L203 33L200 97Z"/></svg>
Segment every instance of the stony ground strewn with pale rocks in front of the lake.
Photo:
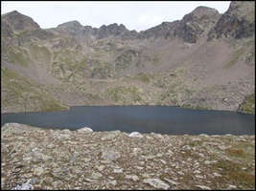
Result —
<svg viewBox="0 0 256 191"><path fill-rule="evenodd" d="M140 135L9 123L1 139L2 189L255 189L255 136Z"/></svg>

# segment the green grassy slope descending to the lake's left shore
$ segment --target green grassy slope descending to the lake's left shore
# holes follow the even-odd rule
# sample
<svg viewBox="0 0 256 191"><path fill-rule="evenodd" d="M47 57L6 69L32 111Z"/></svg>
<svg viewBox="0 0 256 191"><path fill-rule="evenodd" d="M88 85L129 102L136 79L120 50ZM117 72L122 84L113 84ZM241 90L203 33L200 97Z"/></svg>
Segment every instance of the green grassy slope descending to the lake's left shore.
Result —
<svg viewBox="0 0 256 191"><path fill-rule="evenodd" d="M16 111L20 112L49 112L68 109L28 77L5 68L1 70L1 75L3 89L6 92L6 96L2 97L3 106L15 107Z"/></svg>

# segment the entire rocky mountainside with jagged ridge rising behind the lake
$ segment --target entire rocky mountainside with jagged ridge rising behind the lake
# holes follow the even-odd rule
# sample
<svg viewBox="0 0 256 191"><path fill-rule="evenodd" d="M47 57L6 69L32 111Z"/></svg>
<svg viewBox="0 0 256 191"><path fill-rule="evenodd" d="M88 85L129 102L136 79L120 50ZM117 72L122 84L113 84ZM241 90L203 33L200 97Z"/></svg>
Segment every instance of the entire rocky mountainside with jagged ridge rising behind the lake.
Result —
<svg viewBox="0 0 256 191"><path fill-rule="evenodd" d="M117 104L254 113L254 101L245 104L255 95L253 2L222 15L198 7L144 32L78 21L42 30L17 11L1 19L3 112Z"/></svg>

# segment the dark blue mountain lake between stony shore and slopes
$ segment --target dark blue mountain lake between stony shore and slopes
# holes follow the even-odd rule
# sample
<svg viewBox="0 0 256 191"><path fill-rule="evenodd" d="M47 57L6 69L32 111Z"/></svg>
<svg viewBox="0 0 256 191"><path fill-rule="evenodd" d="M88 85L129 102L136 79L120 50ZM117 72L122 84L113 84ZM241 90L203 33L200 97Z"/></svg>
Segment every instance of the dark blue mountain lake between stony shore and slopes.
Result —
<svg viewBox="0 0 256 191"><path fill-rule="evenodd" d="M128 133L255 135L254 115L168 106L79 106L62 112L2 115L1 126L7 122L70 130L87 126Z"/></svg>

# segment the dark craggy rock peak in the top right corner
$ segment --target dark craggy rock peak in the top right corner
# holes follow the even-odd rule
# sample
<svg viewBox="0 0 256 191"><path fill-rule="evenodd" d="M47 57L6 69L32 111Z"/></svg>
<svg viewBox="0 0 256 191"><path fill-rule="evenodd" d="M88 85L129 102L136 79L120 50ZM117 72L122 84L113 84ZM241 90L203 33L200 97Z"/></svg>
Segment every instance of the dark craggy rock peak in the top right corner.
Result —
<svg viewBox="0 0 256 191"><path fill-rule="evenodd" d="M209 32L208 40L221 37L246 38L255 33L255 2L232 1Z"/></svg>

